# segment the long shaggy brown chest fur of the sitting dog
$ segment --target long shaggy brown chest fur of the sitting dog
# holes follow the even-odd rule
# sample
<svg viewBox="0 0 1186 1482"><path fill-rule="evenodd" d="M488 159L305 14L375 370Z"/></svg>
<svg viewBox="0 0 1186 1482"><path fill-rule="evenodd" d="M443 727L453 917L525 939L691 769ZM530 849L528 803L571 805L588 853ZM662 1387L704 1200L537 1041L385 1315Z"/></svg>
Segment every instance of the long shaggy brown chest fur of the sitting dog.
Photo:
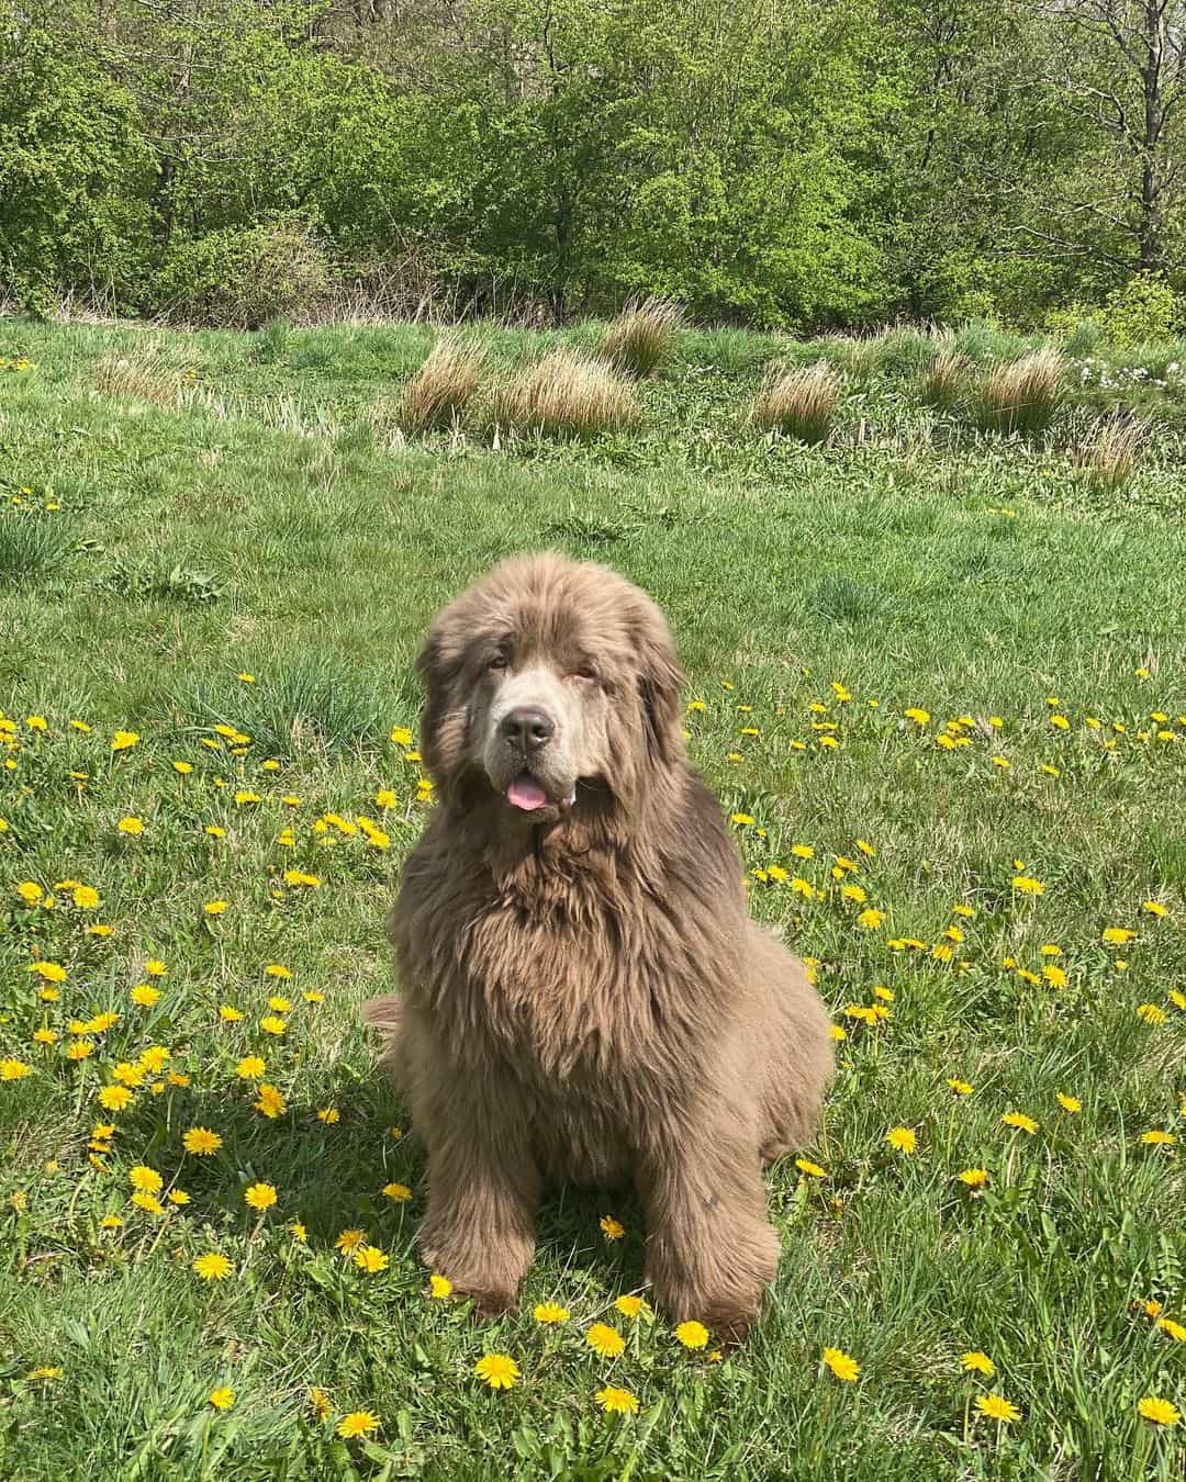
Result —
<svg viewBox="0 0 1186 1482"><path fill-rule="evenodd" d="M689 925L661 880L623 871L523 891L464 873L458 886L454 870L436 857L409 871L393 928L406 990L460 1067L495 1058L538 1094L606 1101L623 1082L688 1073L735 950L719 913Z"/></svg>

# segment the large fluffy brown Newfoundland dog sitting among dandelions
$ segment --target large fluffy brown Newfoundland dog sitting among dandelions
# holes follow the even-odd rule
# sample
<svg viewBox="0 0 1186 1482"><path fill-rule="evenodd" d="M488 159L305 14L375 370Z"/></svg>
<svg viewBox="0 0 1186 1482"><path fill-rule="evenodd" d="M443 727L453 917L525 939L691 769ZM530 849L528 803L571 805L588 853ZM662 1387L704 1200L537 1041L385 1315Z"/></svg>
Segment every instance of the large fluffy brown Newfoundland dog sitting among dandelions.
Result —
<svg viewBox="0 0 1186 1482"><path fill-rule="evenodd" d="M514 1306L544 1180L632 1180L667 1313L741 1337L774 1277L762 1165L832 1073L802 965L746 913L688 765L655 605L602 566L507 560L417 661L439 802L365 1017L428 1157L424 1261Z"/></svg>

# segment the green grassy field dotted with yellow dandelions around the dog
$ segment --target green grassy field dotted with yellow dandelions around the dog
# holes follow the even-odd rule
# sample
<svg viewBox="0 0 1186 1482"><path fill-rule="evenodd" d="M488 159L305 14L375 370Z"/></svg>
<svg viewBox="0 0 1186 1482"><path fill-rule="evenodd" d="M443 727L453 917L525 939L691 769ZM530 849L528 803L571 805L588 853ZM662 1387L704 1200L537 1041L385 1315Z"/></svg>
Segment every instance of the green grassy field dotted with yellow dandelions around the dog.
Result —
<svg viewBox="0 0 1186 1482"><path fill-rule="evenodd" d="M550 342L485 338L483 375ZM0 1472L1180 1478L1176 347L1090 347L1026 443L924 405L921 335L685 333L637 425L566 445L408 439L428 342L0 323ZM747 422L775 354L844 369L824 446ZM1109 491L1076 449L1118 399L1149 433ZM359 1024L431 806L418 637L534 547L666 608L753 911L833 1011L725 1355L615 1306L646 1297L626 1192L550 1197L516 1316L428 1295Z"/></svg>

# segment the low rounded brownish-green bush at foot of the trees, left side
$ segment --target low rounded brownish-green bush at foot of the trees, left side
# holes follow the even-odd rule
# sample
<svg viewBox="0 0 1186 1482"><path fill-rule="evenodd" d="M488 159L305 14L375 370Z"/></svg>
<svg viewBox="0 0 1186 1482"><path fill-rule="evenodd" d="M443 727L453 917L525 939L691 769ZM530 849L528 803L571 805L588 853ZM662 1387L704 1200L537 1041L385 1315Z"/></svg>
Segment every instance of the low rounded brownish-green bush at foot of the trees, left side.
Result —
<svg viewBox="0 0 1186 1482"><path fill-rule="evenodd" d="M329 288L329 265L308 222L274 216L173 247L157 276L157 310L185 323L258 329L294 319Z"/></svg>

